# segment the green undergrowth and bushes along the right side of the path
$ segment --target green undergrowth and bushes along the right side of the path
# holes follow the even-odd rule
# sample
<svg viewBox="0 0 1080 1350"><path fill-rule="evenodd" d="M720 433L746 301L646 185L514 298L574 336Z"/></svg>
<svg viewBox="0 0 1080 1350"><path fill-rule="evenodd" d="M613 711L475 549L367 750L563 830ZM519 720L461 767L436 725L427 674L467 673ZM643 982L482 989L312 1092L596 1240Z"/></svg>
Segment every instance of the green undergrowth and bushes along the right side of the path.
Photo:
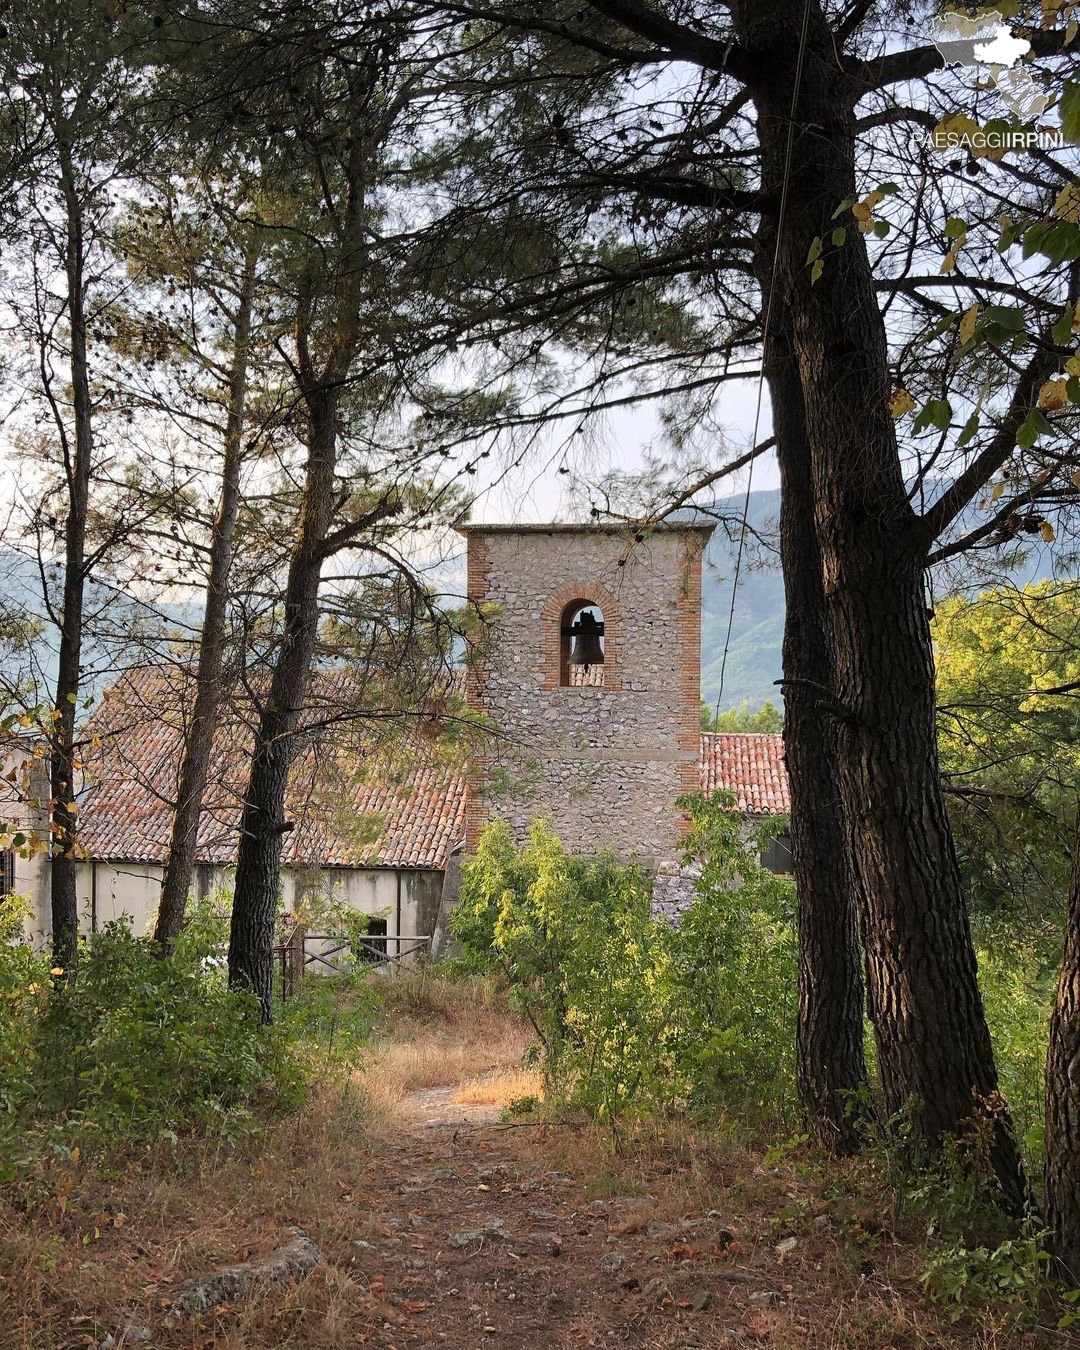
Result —
<svg viewBox="0 0 1080 1350"><path fill-rule="evenodd" d="M508 828L493 822L464 867L454 921L462 964L498 969L508 980L539 1037L548 1110L603 1122L617 1148L641 1122L721 1122L767 1157L779 1148L811 1158L798 1126L792 1062L794 888L759 861L784 822L747 832L724 794L695 794L682 805L693 818L686 863L697 882L678 929L651 917L640 869L613 856L568 856L543 824L518 849ZM1060 954L1052 927L986 917L979 927L1002 1088L1034 1181ZM873 1072L869 1027L867 1057ZM963 1157L919 1161L907 1146L909 1126L903 1116L878 1116L845 1176L857 1177L898 1222L922 1227L922 1285L950 1319L992 1319L1013 1305L1018 1326L1035 1326L1053 1285L1037 1212L1011 1227L995 1206L990 1169L980 1170L976 1139ZM828 1177L832 1164L806 1166ZM1065 1310L1061 1326L1071 1322Z"/></svg>

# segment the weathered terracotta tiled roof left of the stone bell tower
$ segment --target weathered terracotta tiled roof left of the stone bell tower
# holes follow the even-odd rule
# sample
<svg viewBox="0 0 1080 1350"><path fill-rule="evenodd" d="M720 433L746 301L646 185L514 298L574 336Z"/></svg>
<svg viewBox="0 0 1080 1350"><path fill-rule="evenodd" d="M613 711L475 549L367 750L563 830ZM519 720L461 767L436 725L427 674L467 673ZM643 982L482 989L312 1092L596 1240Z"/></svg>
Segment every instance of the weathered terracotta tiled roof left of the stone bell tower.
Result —
<svg viewBox="0 0 1080 1350"><path fill-rule="evenodd" d="M162 863L190 713L190 683L159 667L130 671L108 691L84 729L89 787L80 796L80 842L92 857ZM348 707L348 679L320 680L310 720L332 721ZM355 695L355 690L354 690ZM433 763L396 772L369 768L350 738L309 737L289 775L282 861L293 867L440 869L464 836L464 783ZM213 742L197 856L235 856L252 732L240 713L223 718ZM335 744L338 741L339 744ZM351 744L350 744L351 741ZM100 744L99 744L100 742Z"/></svg>

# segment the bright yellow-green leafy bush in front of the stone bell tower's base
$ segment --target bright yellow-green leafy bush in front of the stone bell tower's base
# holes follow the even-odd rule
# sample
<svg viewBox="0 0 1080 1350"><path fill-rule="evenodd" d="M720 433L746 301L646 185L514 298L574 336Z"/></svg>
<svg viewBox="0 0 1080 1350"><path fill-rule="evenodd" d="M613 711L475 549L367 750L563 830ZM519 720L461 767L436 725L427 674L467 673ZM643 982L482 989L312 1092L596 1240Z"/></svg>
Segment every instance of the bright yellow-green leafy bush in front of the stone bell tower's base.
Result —
<svg viewBox="0 0 1080 1350"><path fill-rule="evenodd" d="M610 853L567 855L549 826L517 849L493 821L463 868L452 926L474 968L497 964L543 1046L548 1092L613 1127L628 1112L776 1112L794 1045L791 886L724 794L694 794L697 899L672 929L652 883Z"/></svg>

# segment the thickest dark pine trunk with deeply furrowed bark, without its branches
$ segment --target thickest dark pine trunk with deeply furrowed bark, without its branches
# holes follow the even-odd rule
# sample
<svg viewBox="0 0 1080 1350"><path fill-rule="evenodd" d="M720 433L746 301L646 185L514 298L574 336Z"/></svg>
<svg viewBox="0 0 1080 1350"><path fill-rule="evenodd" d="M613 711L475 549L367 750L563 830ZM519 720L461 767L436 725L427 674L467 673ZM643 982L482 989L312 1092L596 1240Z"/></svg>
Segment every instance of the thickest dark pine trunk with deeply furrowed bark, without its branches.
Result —
<svg viewBox="0 0 1080 1350"><path fill-rule="evenodd" d="M850 863L865 896L863 941L882 1089L915 1108L934 1146L977 1125L1003 1202L1026 1202L1019 1152L976 981L937 763L923 545L888 413L884 325L863 236L849 228L811 284L806 255L855 196L855 90L819 0L791 115L803 0L733 7L756 74L763 184L779 200L778 300L791 313L810 443L822 576L832 620L837 783ZM788 157L788 128L794 143Z"/></svg>

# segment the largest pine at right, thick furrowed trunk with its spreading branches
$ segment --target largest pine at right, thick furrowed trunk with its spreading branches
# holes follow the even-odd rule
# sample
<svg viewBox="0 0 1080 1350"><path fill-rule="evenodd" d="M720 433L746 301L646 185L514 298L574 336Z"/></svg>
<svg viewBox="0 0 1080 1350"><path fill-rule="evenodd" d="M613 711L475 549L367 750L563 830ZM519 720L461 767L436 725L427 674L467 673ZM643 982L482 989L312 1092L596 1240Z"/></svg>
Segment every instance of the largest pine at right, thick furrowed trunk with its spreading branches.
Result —
<svg viewBox="0 0 1080 1350"><path fill-rule="evenodd" d="M774 0L691 15L679 4L594 0L558 14L468 12L493 20L493 40L504 42L508 26L529 31L517 70L548 100L548 157L539 138L528 158L524 142L516 161L506 157L513 212L536 197L580 204L590 220L618 212L620 238L639 244L643 270L663 258L683 284L697 277L695 302L724 321L722 340L702 354L724 362L714 387L737 356L732 320L748 298L745 277L759 282L759 315L787 315L819 563L813 551L791 554L786 568L799 566L796 556L813 567L817 580L806 585L821 587L828 616L832 659L818 672L815 717L834 728L828 734L863 909L886 1107L919 1103L915 1131L930 1145L964 1134L972 1118L988 1120L1003 1196L1019 1206L1023 1184L996 1094L940 786L925 572L963 549L996 547L1018 514L1064 500L1061 475L1073 456L1061 437L1075 413L1062 406L1064 373L1050 377L1069 359L1062 325L1075 301L1068 262L1077 240L1064 219L1068 204L1054 205L1062 163L1046 154L995 157L990 181L977 151L933 148L927 132L940 120L961 108L980 112L995 94L976 93L971 76L929 80L945 65L929 40L929 4ZM1037 59L1053 62L1065 50L1064 20L1049 31L1041 12L1031 19L1025 38ZM926 39L911 47L919 22ZM606 82L612 70L633 90L621 100ZM597 97L582 113L590 78ZM910 99L894 92L903 81L918 82ZM896 182L865 181L880 163ZM1002 192L1019 198L1022 217L1004 234ZM883 220L886 200L896 209ZM491 205L501 207L494 190ZM771 230L776 246L763 248L760 235ZM1007 261L1021 239L1049 259L1035 275L1018 277ZM572 265L533 282L535 312L541 294L558 297L563 315L572 288L583 294L591 247L591 238L589 248L571 244ZM981 250L977 274L963 266L965 250ZM1004 297L1019 304L994 302ZM760 333L760 323L745 327L741 350ZM603 378L608 394L610 373ZM699 385L707 378L699 370ZM973 379L981 400L969 397ZM910 406L913 423L905 421ZM957 421L959 435L949 435ZM783 446L778 454L783 463ZM972 520L999 474L998 505Z"/></svg>

